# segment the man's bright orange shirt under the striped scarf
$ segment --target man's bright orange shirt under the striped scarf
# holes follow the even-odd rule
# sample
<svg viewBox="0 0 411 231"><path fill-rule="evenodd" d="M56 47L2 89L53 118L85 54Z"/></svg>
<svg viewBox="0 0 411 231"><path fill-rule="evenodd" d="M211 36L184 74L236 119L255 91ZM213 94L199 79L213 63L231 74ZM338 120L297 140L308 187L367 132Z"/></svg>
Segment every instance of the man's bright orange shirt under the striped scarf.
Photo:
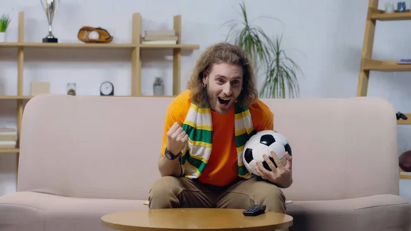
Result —
<svg viewBox="0 0 411 231"><path fill-rule="evenodd" d="M175 97L169 105L164 121L161 154L167 145L167 132L177 121L181 126L191 106L190 90ZM253 127L256 132L273 130L273 113L260 99L249 107ZM210 159L199 177L205 184L225 186L238 178L237 151L234 136L234 107L227 114L218 114L211 110L212 115L212 152Z"/></svg>

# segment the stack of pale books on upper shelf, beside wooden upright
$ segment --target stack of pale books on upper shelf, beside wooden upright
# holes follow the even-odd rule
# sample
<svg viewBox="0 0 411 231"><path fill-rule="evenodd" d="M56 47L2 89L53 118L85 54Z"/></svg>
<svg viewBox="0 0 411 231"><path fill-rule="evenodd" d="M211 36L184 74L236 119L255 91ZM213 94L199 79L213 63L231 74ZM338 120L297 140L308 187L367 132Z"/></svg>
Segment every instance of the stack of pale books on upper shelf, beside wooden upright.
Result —
<svg viewBox="0 0 411 231"><path fill-rule="evenodd" d="M177 36L174 29L146 30L141 37L141 44L177 44Z"/></svg>

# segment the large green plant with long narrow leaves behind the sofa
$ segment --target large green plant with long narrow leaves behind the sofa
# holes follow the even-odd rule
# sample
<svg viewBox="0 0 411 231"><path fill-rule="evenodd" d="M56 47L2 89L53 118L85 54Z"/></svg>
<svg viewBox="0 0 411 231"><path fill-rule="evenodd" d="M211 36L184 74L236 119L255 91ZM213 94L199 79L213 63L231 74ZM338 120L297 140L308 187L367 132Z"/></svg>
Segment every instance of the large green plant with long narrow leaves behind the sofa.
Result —
<svg viewBox="0 0 411 231"><path fill-rule="evenodd" d="M245 50L253 62L256 77L259 77L259 71L262 72L264 82L260 97L299 97L297 73L302 71L296 62L286 56L281 47L282 36L271 38L261 27L251 24L244 2L240 3L240 8L242 20L227 22L234 23L225 41L232 41Z"/></svg>

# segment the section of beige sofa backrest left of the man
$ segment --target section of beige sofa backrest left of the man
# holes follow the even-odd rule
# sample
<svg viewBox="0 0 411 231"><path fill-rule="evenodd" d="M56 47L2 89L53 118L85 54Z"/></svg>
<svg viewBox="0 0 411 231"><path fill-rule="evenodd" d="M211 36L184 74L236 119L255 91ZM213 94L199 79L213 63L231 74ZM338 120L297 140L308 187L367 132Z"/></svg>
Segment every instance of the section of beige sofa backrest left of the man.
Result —
<svg viewBox="0 0 411 231"><path fill-rule="evenodd" d="M38 95L25 106L19 191L147 199L171 98Z"/></svg>

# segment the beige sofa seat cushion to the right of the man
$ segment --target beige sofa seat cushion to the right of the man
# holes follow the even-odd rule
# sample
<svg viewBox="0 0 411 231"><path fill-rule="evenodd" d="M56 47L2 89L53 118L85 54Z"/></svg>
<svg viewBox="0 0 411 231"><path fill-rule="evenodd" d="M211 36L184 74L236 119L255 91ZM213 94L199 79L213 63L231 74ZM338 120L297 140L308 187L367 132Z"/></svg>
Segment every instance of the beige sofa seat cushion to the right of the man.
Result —
<svg viewBox="0 0 411 231"><path fill-rule="evenodd" d="M295 201L287 206L291 230L410 230L411 204L398 195Z"/></svg>

